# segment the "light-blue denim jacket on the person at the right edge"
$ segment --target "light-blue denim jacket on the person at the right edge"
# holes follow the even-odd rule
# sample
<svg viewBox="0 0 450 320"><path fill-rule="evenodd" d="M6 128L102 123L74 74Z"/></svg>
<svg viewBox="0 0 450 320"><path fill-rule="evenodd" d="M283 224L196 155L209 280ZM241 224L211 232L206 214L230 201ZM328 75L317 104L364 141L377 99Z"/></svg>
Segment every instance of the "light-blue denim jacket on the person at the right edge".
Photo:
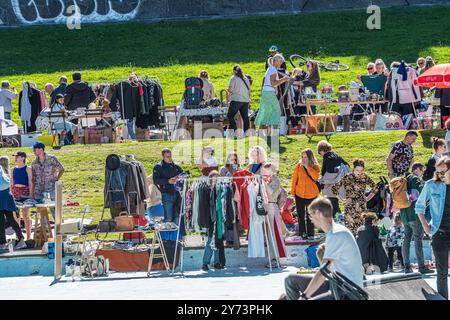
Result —
<svg viewBox="0 0 450 320"><path fill-rule="evenodd" d="M429 180L425 183L419 199L416 202L416 214L425 214L425 209L429 202L432 235L438 231L442 222L446 191L447 185L445 183Z"/></svg>

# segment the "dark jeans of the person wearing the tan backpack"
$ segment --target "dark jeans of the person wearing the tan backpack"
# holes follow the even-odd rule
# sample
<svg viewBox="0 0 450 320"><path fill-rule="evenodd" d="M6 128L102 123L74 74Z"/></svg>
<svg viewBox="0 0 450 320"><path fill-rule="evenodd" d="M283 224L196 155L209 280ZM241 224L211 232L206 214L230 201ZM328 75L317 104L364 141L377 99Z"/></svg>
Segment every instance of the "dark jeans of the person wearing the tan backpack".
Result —
<svg viewBox="0 0 450 320"><path fill-rule="evenodd" d="M411 248L411 239L414 236L414 249L416 251L416 259L419 269L425 269L425 261L423 257L423 228L419 221L410 221L403 224L405 227L405 238L403 240L402 254L405 267L411 264L409 249Z"/></svg>

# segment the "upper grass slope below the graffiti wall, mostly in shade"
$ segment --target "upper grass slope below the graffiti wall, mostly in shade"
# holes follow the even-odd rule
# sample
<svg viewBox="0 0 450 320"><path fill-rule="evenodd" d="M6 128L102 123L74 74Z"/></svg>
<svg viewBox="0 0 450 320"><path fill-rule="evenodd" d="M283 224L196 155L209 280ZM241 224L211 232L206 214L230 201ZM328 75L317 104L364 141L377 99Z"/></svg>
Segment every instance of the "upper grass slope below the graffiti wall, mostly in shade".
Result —
<svg viewBox="0 0 450 320"><path fill-rule="evenodd" d="M346 72L322 72L322 83L336 88L365 73L367 62L386 64L419 56L450 58L450 6L382 9L382 30L368 30L363 10L252 17L225 20L82 25L0 29L0 79L17 88L24 80L56 83L61 74L83 70L87 81L126 78L136 71L159 77L166 105L180 102L184 79L209 71L216 91L227 87L232 66L240 63L255 81L253 107L259 103L259 79L270 45L281 52L339 59ZM447 20L446 20L447 19ZM15 119L18 116L15 114Z"/></svg>

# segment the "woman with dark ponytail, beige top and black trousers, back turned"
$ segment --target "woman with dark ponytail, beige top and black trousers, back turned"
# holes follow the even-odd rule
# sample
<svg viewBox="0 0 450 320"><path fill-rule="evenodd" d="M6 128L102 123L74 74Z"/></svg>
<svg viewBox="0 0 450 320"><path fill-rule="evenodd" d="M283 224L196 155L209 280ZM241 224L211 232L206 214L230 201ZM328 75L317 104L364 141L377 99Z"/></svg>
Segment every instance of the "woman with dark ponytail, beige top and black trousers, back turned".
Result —
<svg viewBox="0 0 450 320"><path fill-rule="evenodd" d="M230 122L229 129L233 133L237 130L235 116L239 112L244 122L244 136L250 128L250 121L248 119L248 110L250 106L250 90L251 84L248 78L244 75L244 71L237 64L233 67L233 76L230 79L227 90L228 121Z"/></svg>

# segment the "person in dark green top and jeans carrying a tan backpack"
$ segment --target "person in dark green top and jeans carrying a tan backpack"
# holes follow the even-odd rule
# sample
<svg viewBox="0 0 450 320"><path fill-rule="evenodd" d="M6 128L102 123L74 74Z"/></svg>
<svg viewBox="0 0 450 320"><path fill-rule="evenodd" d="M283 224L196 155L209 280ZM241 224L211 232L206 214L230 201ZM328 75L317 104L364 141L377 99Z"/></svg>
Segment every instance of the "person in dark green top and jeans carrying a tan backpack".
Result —
<svg viewBox="0 0 450 320"><path fill-rule="evenodd" d="M400 209L400 217L405 229L405 237L402 245L402 256L405 263L405 273L412 273L410 263L411 240L414 237L414 249L416 253L419 272L422 274L433 273L425 266L423 255L423 228L415 212L416 202L419 194L423 189L423 181L426 167L421 163L414 163L411 167L411 174L407 174L407 190L410 195L411 206L409 208ZM434 173L433 173L434 174Z"/></svg>

